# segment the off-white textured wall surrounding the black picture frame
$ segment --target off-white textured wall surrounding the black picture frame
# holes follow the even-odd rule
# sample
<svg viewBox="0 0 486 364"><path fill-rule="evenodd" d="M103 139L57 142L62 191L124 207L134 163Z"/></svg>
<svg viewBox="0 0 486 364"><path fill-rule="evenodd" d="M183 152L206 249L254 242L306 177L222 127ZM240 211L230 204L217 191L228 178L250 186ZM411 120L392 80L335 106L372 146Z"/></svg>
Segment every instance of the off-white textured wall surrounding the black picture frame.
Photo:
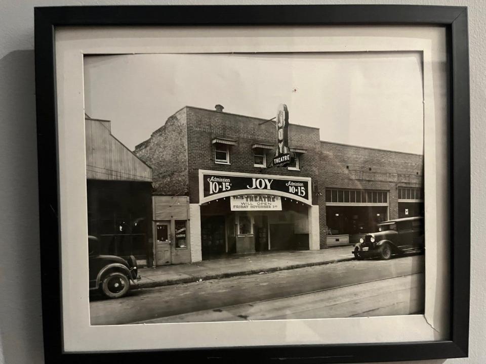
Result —
<svg viewBox="0 0 486 364"><path fill-rule="evenodd" d="M220 1L0 1L0 364L42 363L35 135L33 7L47 5L223 4ZM226 2L230 3L230 2ZM232 0L258 4L258 0ZM266 4L302 4L266 1ZM306 1L305 4L467 5L471 70L472 251L470 357L447 364L486 362L486 2ZM414 363L437 364L443 360Z"/></svg>

